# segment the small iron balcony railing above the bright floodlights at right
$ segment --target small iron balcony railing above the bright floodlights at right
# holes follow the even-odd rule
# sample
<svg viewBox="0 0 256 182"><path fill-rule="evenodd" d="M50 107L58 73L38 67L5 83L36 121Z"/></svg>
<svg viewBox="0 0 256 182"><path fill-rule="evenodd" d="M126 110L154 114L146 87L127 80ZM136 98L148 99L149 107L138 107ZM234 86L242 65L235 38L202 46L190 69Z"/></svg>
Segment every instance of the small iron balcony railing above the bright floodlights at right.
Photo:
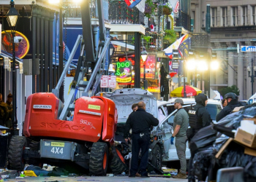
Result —
<svg viewBox="0 0 256 182"><path fill-rule="evenodd" d="M191 47L207 47L208 34L207 33L192 33Z"/></svg>

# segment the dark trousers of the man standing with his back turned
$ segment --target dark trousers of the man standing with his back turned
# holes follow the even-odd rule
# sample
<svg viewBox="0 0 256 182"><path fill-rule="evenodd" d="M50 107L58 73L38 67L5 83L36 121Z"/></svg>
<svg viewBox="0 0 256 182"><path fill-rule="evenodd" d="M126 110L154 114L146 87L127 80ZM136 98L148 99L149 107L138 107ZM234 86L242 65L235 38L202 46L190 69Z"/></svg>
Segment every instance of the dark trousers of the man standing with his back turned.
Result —
<svg viewBox="0 0 256 182"><path fill-rule="evenodd" d="M138 157L141 149L140 171L141 175L147 175L149 136L146 133L132 133L132 162L130 175L138 172Z"/></svg>

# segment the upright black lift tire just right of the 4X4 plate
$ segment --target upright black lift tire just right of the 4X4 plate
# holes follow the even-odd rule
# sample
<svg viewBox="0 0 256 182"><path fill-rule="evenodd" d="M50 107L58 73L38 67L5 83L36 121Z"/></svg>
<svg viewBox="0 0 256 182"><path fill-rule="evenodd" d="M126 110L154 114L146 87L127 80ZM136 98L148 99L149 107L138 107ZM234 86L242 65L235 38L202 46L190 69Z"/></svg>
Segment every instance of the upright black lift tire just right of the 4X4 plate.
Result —
<svg viewBox="0 0 256 182"><path fill-rule="evenodd" d="M106 156L105 156L106 154ZM104 156L107 157L105 169L103 167ZM89 160L89 172L91 175L106 175L108 170L108 145L107 143L97 142L91 146Z"/></svg>

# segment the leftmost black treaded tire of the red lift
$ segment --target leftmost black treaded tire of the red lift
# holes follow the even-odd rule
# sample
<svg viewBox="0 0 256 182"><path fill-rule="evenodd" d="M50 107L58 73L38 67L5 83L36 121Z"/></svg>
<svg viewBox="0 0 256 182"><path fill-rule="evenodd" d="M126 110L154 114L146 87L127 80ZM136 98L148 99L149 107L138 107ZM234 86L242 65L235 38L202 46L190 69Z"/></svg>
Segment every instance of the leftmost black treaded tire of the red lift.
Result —
<svg viewBox="0 0 256 182"><path fill-rule="evenodd" d="M13 136L8 149L8 165L10 170L24 170L25 160L23 151L26 147L26 138Z"/></svg>

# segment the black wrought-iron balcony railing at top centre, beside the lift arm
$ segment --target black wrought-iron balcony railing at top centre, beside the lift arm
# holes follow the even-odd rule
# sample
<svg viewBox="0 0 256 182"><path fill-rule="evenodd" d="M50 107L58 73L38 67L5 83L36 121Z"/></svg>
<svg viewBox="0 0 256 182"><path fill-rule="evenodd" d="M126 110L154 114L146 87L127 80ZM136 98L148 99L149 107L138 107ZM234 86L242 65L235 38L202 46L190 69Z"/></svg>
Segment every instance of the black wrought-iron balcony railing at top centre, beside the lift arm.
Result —
<svg viewBox="0 0 256 182"><path fill-rule="evenodd" d="M110 23L113 24L144 24L144 14L136 7L129 8L125 1L109 1Z"/></svg>

